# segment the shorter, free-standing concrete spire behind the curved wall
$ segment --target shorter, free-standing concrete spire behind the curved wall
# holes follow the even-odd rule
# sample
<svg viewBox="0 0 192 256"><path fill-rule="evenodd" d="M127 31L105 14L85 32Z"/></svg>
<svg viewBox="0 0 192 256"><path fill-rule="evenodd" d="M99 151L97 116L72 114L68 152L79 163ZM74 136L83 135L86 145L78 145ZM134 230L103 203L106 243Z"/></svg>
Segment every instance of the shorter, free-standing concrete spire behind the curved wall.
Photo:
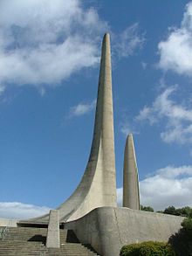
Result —
<svg viewBox="0 0 192 256"><path fill-rule="evenodd" d="M139 178L132 134L127 136L124 153L123 207L140 210Z"/></svg>

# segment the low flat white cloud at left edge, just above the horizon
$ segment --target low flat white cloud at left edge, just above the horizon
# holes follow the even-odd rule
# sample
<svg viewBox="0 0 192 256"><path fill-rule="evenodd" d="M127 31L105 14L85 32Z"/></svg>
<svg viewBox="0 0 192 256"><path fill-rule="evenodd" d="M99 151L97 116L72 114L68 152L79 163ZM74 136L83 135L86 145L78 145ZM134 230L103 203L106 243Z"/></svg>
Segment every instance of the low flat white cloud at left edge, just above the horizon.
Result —
<svg viewBox="0 0 192 256"><path fill-rule="evenodd" d="M0 218L34 218L48 213L49 211L50 209L46 206L18 202L0 202Z"/></svg>

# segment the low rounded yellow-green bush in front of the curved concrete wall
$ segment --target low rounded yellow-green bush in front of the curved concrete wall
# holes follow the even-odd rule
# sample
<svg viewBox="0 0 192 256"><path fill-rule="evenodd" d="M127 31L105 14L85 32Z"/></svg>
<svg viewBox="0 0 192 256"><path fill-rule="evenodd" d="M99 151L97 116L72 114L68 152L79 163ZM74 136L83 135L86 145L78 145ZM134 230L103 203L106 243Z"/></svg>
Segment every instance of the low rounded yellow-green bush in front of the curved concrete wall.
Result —
<svg viewBox="0 0 192 256"><path fill-rule="evenodd" d="M172 247L168 243L161 242L142 242L123 246L120 256L175 256Z"/></svg>

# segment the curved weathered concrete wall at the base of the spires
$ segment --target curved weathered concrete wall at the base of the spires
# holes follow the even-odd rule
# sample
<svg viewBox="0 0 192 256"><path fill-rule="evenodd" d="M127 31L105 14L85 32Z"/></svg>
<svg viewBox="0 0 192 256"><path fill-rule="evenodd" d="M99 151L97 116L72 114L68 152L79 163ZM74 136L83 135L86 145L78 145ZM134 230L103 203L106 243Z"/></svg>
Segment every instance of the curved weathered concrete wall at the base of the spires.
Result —
<svg viewBox="0 0 192 256"><path fill-rule="evenodd" d="M183 218L128 208L101 207L68 222L81 243L91 244L102 256L117 256L120 248L142 241L168 241Z"/></svg>

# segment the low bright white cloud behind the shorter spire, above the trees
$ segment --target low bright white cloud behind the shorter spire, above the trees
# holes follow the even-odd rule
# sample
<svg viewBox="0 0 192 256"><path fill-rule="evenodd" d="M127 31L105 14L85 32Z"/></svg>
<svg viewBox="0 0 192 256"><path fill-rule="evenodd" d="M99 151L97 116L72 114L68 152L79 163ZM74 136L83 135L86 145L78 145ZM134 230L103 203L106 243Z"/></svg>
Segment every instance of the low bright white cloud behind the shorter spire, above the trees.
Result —
<svg viewBox="0 0 192 256"><path fill-rule="evenodd" d="M141 204L155 211L169 205L192 206L192 166L167 166L140 182ZM117 190L118 204L122 202L122 188Z"/></svg>

